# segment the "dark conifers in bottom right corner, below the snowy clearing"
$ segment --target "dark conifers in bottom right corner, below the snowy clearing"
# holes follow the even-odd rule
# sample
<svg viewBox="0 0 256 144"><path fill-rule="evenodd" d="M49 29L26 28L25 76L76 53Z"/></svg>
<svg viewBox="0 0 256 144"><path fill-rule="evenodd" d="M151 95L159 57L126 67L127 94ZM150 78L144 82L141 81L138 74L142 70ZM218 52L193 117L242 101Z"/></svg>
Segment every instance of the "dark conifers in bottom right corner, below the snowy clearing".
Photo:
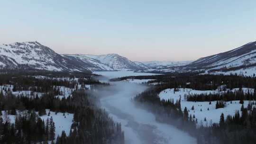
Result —
<svg viewBox="0 0 256 144"><path fill-rule="evenodd" d="M198 144L255 144L256 108L242 109L235 116L221 114L219 124L197 129Z"/></svg>

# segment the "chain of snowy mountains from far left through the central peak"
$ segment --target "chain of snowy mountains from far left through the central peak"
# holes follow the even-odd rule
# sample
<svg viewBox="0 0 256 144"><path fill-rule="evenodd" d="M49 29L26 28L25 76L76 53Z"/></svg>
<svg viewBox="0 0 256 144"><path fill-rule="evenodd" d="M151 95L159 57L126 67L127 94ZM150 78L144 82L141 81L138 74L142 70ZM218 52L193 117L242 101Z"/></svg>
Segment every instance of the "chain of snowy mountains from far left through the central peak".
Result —
<svg viewBox="0 0 256 144"><path fill-rule="evenodd" d="M0 45L1 69L85 72L134 71L152 66L157 64L132 62L118 54L57 54L36 41Z"/></svg>

